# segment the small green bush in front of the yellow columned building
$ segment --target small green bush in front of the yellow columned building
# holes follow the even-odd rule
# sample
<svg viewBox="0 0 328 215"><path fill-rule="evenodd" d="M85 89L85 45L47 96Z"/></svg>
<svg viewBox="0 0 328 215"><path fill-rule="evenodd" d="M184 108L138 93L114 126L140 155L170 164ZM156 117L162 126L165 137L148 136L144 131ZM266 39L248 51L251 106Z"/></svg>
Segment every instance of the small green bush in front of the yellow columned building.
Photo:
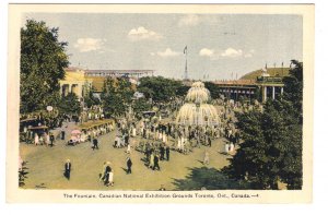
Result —
<svg viewBox="0 0 328 215"><path fill-rule="evenodd" d="M81 112L81 105L74 93L61 97L58 108L61 114L80 115Z"/></svg>

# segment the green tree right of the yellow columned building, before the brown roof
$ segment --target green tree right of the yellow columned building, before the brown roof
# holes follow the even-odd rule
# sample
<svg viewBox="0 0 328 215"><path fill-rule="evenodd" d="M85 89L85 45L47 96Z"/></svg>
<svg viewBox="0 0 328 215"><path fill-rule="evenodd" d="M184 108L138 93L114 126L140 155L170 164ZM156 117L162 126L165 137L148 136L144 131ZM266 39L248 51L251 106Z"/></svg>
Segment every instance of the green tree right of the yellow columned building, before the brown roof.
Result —
<svg viewBox="0 0 328 215"><path fill-rule="evenodd" d="M131 83L127 79L107 79L102 93L105 115L119 117L128 111L133 93Z"/></svg>

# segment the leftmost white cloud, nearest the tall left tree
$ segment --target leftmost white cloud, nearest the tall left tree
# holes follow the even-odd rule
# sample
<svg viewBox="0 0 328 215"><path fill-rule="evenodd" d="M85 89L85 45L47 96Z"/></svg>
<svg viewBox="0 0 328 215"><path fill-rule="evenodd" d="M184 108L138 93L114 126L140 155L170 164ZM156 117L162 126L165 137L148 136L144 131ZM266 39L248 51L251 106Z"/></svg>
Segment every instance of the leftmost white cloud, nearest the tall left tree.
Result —
<svg viewBox="0 0 328 215"><path fill-rule="evenodd" d="M106 39L101 38L79 38L74 48L79 49L80 52L102 50L105 41Z"/></svg>

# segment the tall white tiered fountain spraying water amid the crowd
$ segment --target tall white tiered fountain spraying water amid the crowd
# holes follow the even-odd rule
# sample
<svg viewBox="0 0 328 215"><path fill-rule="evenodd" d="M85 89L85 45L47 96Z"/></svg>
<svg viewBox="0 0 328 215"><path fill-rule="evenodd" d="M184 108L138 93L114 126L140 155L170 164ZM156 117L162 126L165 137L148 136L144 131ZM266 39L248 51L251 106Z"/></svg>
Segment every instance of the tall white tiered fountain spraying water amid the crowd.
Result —
<svg viewBox="0 0 328 215"><path fill-rule="evenodd" d="M219 124L219 115L211 99L210 92L202 82L195 82L185 98L185 105L180 108L177 124L185 126L215 126Z"/></svg>

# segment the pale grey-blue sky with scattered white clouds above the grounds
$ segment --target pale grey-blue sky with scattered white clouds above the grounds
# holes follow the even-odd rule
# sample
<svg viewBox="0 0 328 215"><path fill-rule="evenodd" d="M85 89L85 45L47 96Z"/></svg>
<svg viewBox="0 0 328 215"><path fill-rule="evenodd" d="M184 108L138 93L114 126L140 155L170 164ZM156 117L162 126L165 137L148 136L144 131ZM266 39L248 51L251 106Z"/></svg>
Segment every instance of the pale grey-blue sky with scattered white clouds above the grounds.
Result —
<svg viewBox="0 0 328 215"><path fill-rule="evenodd" d="M26 13L22 26L26 19L59 27L70 65L83 69L183 79L187 46L188 76L214 81L303 58L301 15Z"/></svg>

